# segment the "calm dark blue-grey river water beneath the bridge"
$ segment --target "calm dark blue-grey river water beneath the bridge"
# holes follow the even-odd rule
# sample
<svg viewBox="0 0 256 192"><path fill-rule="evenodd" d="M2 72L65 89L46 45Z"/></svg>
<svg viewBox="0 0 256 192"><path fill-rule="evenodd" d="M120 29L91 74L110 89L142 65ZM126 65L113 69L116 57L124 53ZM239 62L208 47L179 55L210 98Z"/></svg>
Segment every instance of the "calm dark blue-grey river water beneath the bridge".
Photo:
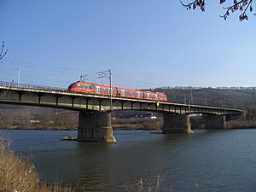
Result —
<svg viewBox="0 0 256 192"><path fill-rule="evenodd" d="M167 191L256 191L256 129L190 135L113 131L117 143L61 141L77 131L0 133L17 154L32 155L41 178L61 179L81 191L137 191L141 177L148 186L157 175Z"/></svg>

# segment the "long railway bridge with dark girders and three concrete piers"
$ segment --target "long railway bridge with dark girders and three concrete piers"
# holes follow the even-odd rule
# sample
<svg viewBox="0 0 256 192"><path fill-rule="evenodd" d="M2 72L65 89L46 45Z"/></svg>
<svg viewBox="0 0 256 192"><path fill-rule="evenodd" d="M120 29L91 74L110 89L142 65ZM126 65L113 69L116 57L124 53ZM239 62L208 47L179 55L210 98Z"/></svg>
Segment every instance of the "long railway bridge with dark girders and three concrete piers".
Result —
<svg viewBox="0 0 256 192"><path fill-rule="evenodd" d="M125 97L70 92L32 84L0 82L0 103L79 111L79 141L115 142L111 126L114 110L154 111L164 114L163 133L192 133L189 115L205 116L206 129L224 129L226 116L243 113L235 108L155 102Z"/></svg>

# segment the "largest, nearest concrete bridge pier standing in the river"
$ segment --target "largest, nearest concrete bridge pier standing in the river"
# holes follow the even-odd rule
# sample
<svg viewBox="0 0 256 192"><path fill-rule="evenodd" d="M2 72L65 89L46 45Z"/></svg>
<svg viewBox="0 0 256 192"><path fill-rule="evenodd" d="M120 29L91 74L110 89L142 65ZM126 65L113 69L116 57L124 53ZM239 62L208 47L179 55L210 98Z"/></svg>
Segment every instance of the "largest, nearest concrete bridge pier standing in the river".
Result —
<svg viewBox="0 0 256 192"><path fill-rule="evenodd" d="M80 112L79 142L116 142L111 126L111 112Z"/></svg>

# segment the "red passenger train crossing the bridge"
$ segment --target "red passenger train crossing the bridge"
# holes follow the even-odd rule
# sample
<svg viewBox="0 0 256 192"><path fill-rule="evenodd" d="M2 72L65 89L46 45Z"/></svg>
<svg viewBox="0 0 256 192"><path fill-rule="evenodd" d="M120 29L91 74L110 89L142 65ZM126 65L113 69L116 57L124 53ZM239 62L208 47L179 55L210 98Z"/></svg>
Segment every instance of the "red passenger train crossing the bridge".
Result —
<svg viewBox="0 0 256 192"><path fill-rule="evenodd" d="M110 86L86 83L82 81L77 81L70 84L67 88L69 91L100 94L100 95L110 95ZM167 102L167 96L159 92L143 91L143 90L129 90L119 87L112 87L112 96L128 97L135 99L147 99L160 102Z"/></svg>

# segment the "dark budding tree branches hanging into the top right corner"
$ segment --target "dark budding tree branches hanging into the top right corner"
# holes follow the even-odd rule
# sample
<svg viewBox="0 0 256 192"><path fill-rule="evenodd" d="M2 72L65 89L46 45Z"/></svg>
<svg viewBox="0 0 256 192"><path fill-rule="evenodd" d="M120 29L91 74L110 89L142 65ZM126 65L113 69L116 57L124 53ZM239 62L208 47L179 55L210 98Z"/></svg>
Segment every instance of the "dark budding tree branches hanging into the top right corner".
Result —
<svg viewBox="0 0 256 192"><path fill-rule="evenodd" d="M199 7L201 11L205 11L205 2L206 0L195 0L186 4L183 3L182 0L180 0L180 3L182 3L183 7L187 8L188 10L196 9ZM220 4L225 2L226 0L220 0ZM231 3L227 7L223 7L223 9L225 10L225 13L224 15L220 15L220 17L224 18L224 20L227 20L230 14L236 12L237 10L241 11L241 15L239 15L239 20L248 20L247 12L253 12L253 0L233 0L233 3Z"/></svg>

